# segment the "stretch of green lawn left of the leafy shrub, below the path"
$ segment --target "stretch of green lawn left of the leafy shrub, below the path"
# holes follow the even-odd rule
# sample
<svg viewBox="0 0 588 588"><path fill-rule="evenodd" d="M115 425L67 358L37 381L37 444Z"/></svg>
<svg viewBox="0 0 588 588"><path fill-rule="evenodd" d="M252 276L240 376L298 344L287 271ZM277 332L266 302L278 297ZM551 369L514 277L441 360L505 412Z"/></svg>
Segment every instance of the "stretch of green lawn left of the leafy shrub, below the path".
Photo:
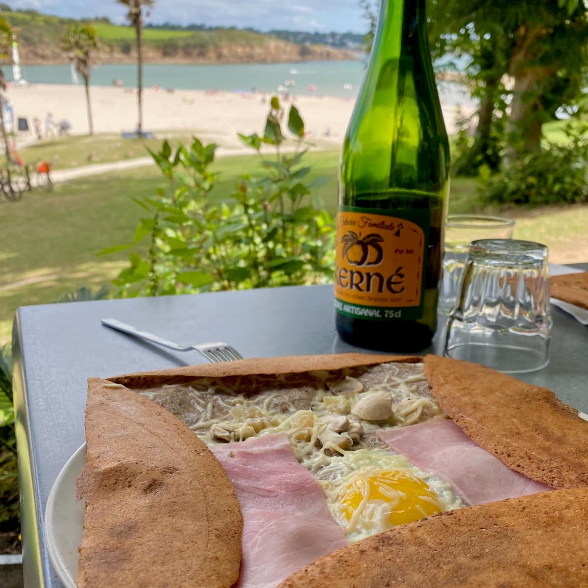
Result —
<svg viewBox="0 0 588 588"><path fill-rule="evenodd" d="M141 172L83 179L0 205L0 341L8 338L18 306L55 302L116 275L124 255L95 253L131 239L141 209L129 196L142 196L157 182L154 173Z"/></svg>

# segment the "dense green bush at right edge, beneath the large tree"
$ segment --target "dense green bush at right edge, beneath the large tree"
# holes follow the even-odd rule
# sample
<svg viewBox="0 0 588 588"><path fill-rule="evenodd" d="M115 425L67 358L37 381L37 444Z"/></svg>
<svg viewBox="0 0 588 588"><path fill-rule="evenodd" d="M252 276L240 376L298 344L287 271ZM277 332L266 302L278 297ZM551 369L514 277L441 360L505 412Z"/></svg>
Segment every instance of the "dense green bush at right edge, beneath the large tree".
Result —
<svg viewBox="0 0 588 588"><path fill-rule="evenodd" d="M486 204L563 204L588 202L588 122L569 125L568 141L549 143L488 176Z"/></svg>

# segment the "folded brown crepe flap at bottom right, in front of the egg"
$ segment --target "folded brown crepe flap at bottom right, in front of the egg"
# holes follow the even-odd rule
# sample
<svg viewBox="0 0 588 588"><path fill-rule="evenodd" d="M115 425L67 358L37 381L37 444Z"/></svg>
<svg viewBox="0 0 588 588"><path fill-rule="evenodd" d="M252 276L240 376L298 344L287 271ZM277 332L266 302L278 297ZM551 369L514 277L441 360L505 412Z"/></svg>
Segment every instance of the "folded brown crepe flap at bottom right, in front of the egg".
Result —
<svg viewBox="0 0 588 588"><path fill-rule="evenodd" d="M451 510L321 557L279 588L588 584L588 489Z"/></svg>

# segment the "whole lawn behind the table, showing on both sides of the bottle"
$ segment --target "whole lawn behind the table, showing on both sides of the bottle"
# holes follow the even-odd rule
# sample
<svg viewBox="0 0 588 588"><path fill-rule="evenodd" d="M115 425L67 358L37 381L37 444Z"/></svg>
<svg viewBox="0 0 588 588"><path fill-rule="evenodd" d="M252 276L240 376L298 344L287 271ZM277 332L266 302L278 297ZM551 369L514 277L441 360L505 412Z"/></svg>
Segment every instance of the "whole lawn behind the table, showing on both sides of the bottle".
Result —
<svg viewBox="0 0 588 588"><path fill-rule="evenodd" d="M309 153L310 179L328 176L320 195L331 212L337 206L335 152ZM242 173L259 170L257 156L222 158L215 199L226 198ZM100 250L131 242L144 212L131 197L153 194L166 185L155 166L93 176L56 186L54 192L25 193L20 202L0 204L0 342L9 340L18 306L55 302L81 286L99 286L125 266L128 253L96 256ZM476 181L456 178L450 212L477 211ZM516 236L540 240L556 262L580 261L588 250L588 206L515 211Z"/></svg>

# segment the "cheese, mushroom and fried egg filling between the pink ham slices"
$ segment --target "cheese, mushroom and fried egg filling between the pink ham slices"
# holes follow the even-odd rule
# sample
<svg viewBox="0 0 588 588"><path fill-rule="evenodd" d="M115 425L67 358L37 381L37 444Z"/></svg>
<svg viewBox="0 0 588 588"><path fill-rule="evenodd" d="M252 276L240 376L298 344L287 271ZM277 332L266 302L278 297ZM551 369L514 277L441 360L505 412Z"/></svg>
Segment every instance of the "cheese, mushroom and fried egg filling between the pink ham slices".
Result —
<svg viewBox="0 0 588 588"><path fill-rule="evenodd" d="M333 518L349 539L400 524L391 521L405 516L408 507L419 517L463 506L449 484L390 452L376 435L443 415L422 363L224 381L202 378L142 393L181 417L208 445L284 433L296 459L318 479ZM369 405L375 393L380 412L354 408L360 401ZM387 418L360 418L377 415ZM395 476L402 480L397 483ZM434 494L421 492L418 480Z"/></svg>

